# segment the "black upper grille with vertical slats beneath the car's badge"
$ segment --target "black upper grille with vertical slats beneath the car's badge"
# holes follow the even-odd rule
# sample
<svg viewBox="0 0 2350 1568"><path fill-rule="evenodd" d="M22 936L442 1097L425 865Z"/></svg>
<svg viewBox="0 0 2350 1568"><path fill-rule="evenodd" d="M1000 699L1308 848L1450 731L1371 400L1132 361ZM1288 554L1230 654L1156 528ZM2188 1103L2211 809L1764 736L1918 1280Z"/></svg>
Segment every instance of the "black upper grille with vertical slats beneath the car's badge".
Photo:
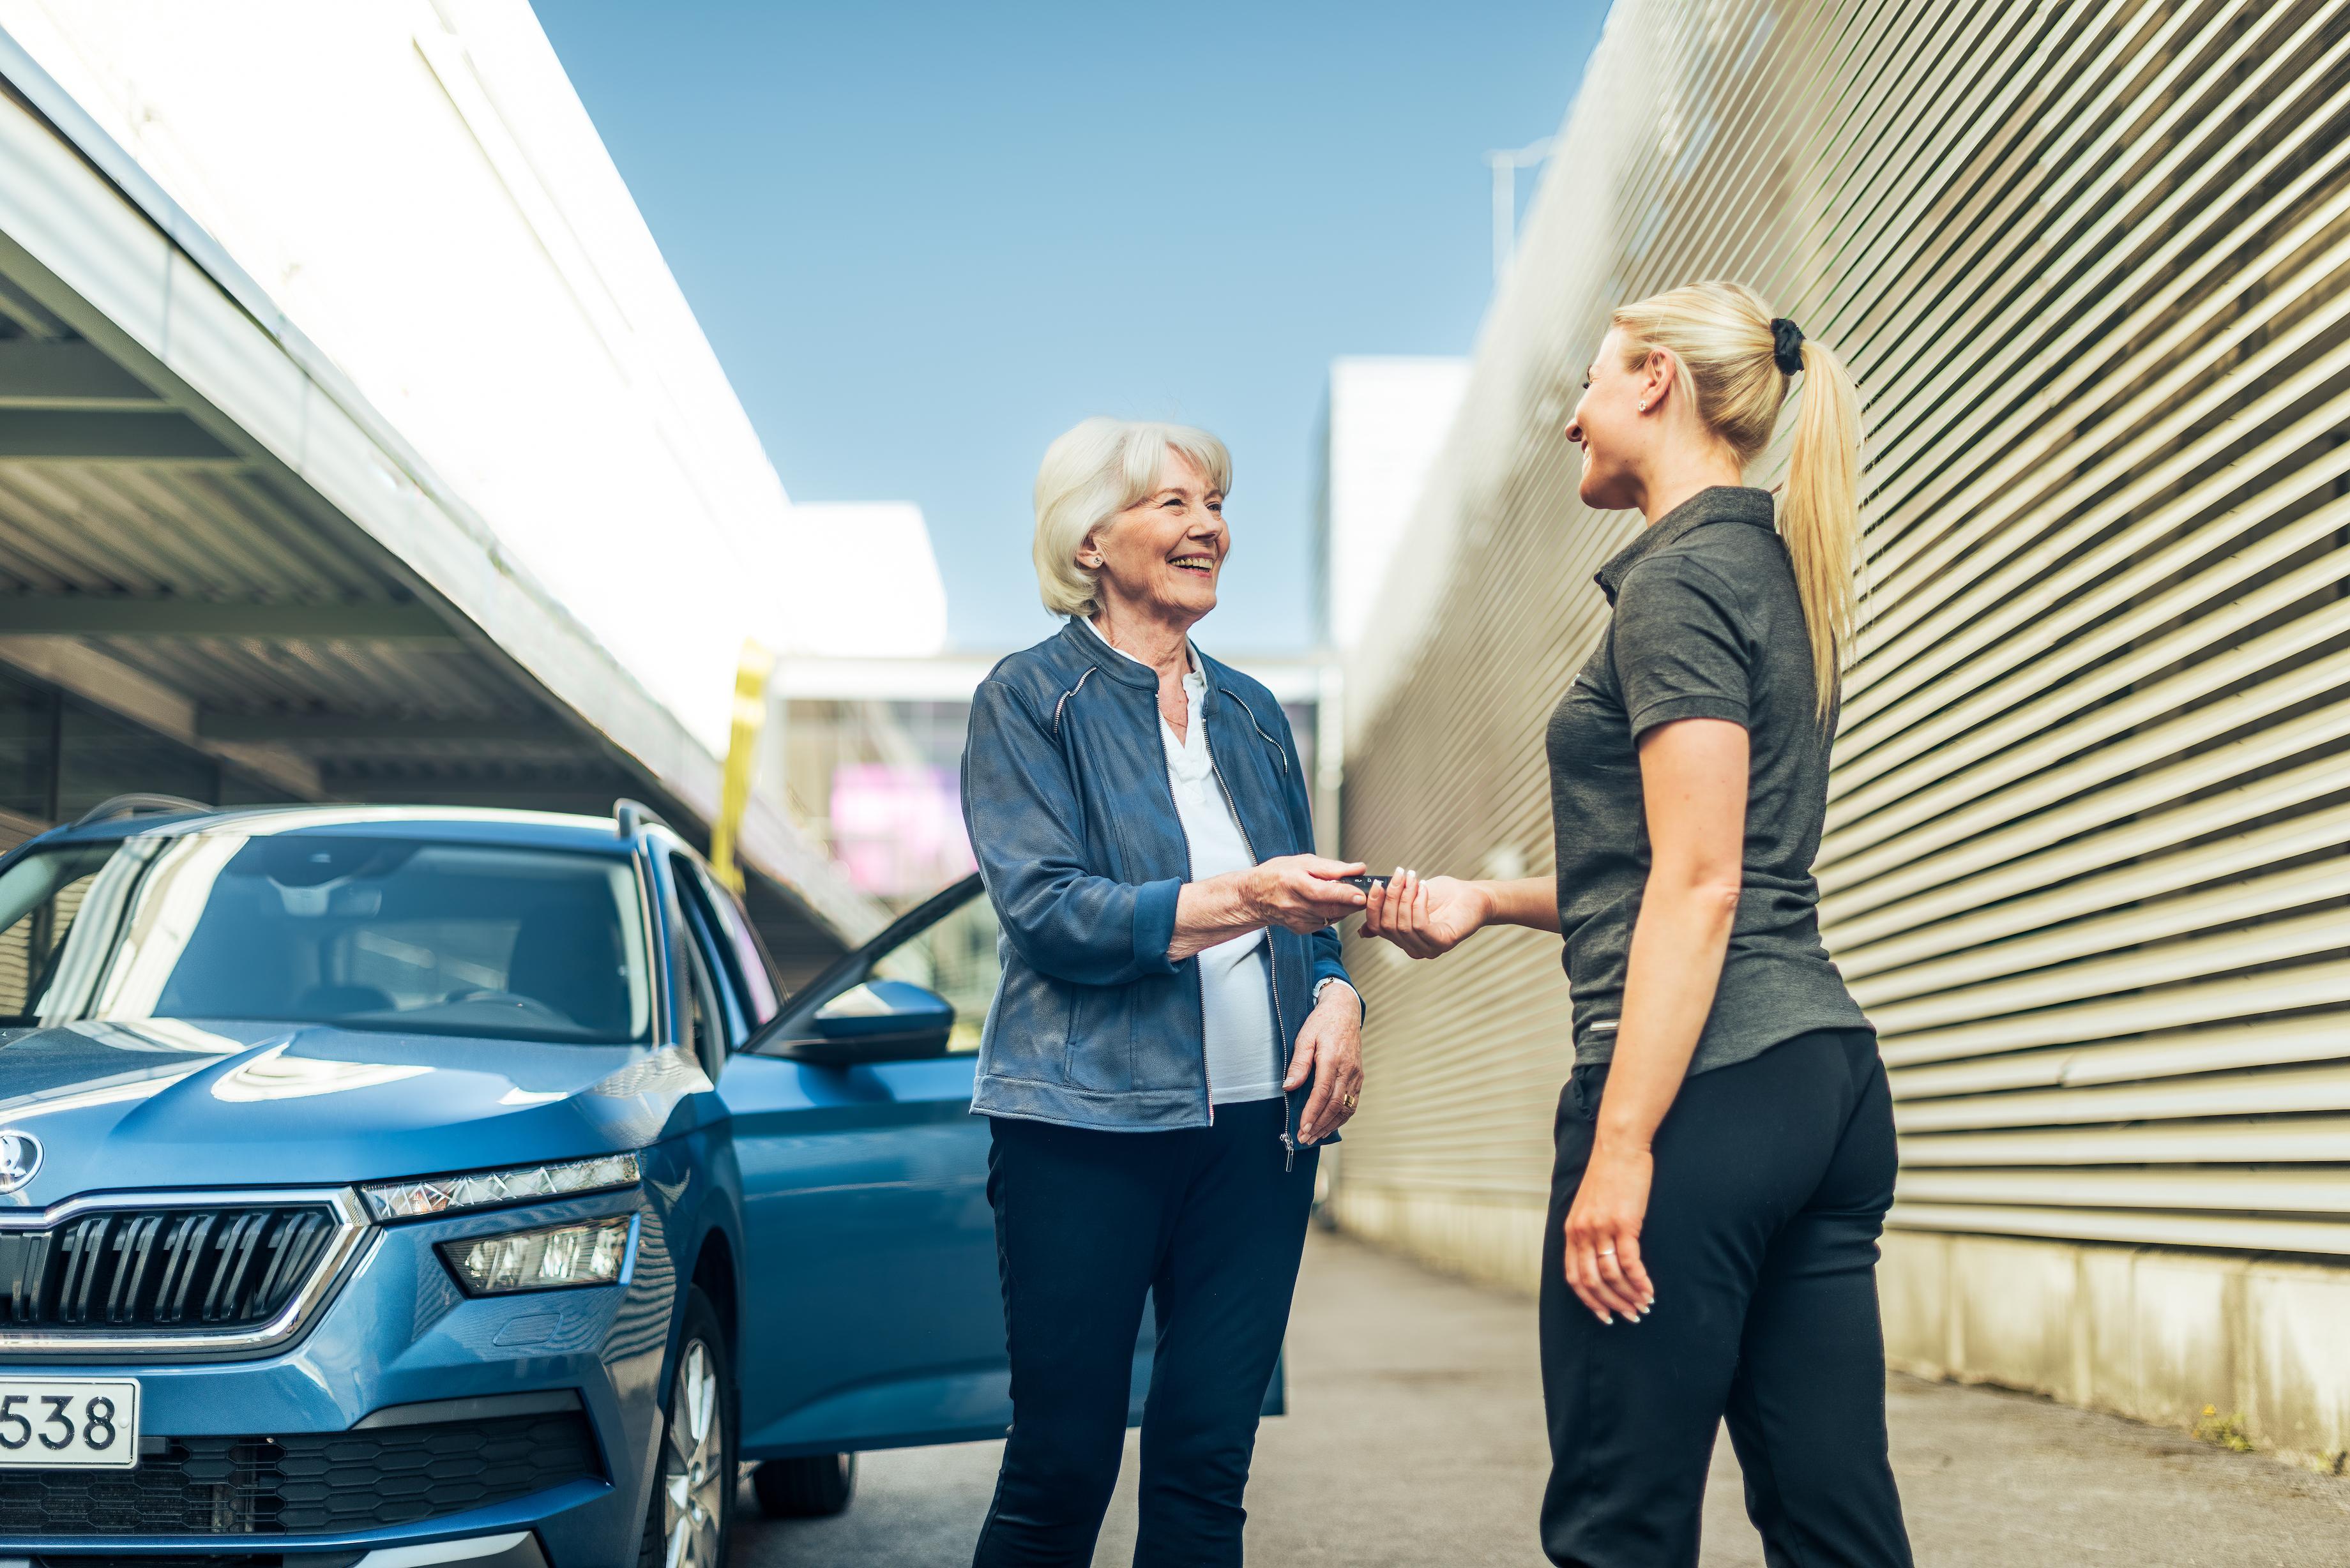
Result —
<svg viewBox="0 0 2350 1568"><path fill-rule="evenodd" d="M108 1208L0 1229L0 1326L254 1328L291 1302L341 1220L327 1204Z"/></svg>

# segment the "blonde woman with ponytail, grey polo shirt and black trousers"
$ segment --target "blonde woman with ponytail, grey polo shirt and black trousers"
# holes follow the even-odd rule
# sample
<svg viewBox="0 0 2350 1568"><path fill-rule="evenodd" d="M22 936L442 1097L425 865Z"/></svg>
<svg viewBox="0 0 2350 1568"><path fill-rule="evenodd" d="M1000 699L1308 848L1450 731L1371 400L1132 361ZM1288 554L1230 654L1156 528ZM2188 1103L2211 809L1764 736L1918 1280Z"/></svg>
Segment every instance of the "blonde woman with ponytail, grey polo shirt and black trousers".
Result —
<svg viewBox="0 0 2350 1568"><path fill-rule="evenodd" d="M1784 496L1746 484L1800 376ZM1885 1453L1878 1234L1894 1121L1819 943L1859 400L1751 289L1619 308L1565 430L1647 527L1549 724L1558 877L1419 879L1365 931L1438 957L1558 931L1574 992L1542 1276L1553 1563L1697 1563L1716 1427L1774 1563L1911 1561Z"/></svg>

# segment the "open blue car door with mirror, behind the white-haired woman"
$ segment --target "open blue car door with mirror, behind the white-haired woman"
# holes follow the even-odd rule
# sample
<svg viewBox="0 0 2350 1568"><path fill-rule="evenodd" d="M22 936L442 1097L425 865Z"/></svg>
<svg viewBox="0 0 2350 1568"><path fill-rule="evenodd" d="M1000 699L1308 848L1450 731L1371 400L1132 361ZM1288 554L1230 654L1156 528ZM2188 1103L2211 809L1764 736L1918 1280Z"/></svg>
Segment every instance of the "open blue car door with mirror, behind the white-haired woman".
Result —
<svg viewBox="0 0 2350 1568"><path fill-rule="evenodd" d="M743 1458L1003 1436L987 1121L996 922L978 877L792 994L719 1095L743 1175Z"/></svg>

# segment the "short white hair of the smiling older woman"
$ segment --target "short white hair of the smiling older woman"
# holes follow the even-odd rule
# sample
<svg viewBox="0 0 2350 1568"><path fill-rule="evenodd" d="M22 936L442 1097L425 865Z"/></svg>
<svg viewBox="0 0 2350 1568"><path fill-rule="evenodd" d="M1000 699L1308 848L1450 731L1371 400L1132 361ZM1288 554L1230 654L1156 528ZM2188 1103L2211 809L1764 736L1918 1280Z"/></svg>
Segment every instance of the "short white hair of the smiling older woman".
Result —
<svg viewBox="0 0 2350 1568"><path fill-rule="evenodd" d="M1043 449L1036 465L1036 590L1048 611L1090 618L1102 609L1095 574L1076 564L1076 552L1088 534L1159 489L1170 451L1191 458L1210 487L1231 489L1224 442L1191 425L1095 416Z"/></svg>

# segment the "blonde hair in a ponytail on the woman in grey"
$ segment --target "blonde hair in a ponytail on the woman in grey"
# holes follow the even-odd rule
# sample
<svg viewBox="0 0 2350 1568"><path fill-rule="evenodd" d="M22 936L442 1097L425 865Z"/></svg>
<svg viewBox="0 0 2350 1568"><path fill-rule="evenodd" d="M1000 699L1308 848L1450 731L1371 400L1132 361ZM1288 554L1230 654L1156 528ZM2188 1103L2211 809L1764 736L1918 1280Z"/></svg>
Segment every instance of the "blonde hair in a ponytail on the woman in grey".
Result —
<svg viewBox="0 0 2350 1568"><path fill-rule="evenodd" d="M1697 416L1741 465L1762 456L1791 376L1779 360L1781 322L1760 294L1737 282L1701 282L1622 306L1610 324L1624 334L1626 364L1640 364L1654 350L1673 357L1697 397ZM1793 324L1786 331L1793 336ZM1826 343L1802 339L1800 353L1802 404L1779 503L1779 536L1795 567L1817 712L1826 724L1856 614L1861 397Z"/></svg>

